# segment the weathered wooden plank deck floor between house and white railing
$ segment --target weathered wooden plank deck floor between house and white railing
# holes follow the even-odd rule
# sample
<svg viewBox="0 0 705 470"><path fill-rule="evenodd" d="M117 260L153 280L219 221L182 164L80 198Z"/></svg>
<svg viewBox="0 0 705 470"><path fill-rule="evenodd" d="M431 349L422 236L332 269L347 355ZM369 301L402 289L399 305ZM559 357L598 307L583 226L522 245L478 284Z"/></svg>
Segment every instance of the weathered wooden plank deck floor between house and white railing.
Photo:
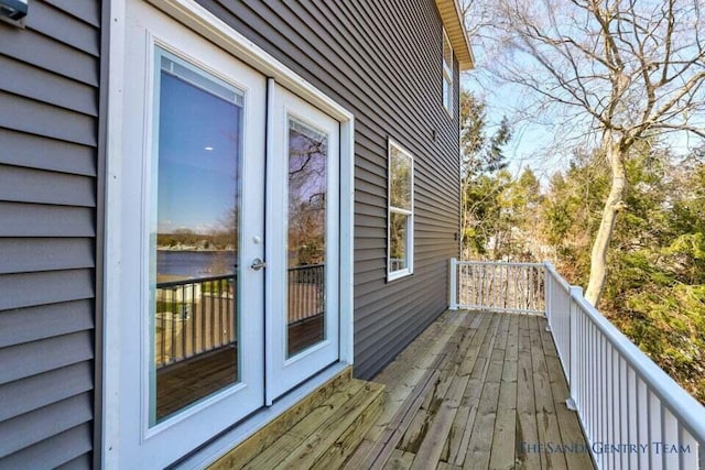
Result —
<svg viewBox="0 0 705 470"><path fill-rule="evenodd" d="M386 408L348 469L590 469L545 319L446 311L375 382Z"/></svg>

